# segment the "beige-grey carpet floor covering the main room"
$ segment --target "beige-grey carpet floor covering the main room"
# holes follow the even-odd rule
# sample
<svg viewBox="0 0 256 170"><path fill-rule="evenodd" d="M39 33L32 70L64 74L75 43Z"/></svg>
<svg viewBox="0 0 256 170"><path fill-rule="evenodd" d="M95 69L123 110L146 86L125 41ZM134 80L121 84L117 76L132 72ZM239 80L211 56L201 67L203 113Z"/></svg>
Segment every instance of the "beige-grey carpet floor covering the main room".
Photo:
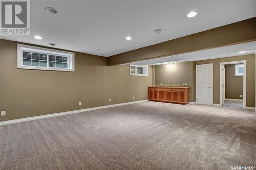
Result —
<svg viewBox="0 0 256 170"><path fill-rule="evenodd" d="M0 169L256 165L254 110L144 102L0 126Z"/></svg>

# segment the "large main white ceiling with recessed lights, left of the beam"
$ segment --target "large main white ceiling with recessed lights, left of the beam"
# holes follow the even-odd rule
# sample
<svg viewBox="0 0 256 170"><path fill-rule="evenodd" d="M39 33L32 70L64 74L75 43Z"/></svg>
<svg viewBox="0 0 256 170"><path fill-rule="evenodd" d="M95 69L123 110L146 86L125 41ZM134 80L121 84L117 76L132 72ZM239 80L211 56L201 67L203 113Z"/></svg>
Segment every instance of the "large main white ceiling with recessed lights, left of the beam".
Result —
<svg viewBox="0 0 256 170"><path fill-rule="evenodd" d="M30 36L2 39L100 56L201 32L256 16L256 1L30 1ZM58 10L58 15L45 12ZM196 11L198 15L187 18ZM156 34L154 30L162 29ZM41 40L33 38L40 35ZM125 40L131 36L131 41ZM100 49L101 51L96 51Z"/></svg>

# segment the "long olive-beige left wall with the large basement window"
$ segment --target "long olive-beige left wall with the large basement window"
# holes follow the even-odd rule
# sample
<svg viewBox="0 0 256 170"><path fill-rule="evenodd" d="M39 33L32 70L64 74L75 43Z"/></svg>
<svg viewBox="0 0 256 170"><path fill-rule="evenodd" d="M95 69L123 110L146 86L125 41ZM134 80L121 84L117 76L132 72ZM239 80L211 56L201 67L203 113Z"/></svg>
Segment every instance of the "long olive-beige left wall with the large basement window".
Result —
<svg viewBox="0 0 256 170"><path fill-rule="evenodd" d="M0 121L146 100L153 85L152 66L148 77L130 76L129 65L82 53L75 53L75 72L17 69L16 45L0 39L0 110L7 114Z"/></svg>

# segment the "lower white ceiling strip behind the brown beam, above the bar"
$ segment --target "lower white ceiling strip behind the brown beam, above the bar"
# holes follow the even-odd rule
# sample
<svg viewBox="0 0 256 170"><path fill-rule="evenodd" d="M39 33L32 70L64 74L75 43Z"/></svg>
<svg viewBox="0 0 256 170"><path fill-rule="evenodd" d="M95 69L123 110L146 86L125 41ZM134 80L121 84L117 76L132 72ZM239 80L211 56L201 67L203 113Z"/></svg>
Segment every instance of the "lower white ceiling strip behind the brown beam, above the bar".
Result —
<svg viewBox="0 0 256 170"><path fill-rule="evenodd" d="M242 51L245 51L245 53L242 53L242 54L239 53ZM255 51L256 51L256 41L253 41L253 42L247 42L242 44L212 48L208 50L201 50L197 52L138 61L138 62L133 62L131 64L159 65L159 64L165 64L168 62L198 61L198 60L207 60L207 59L255 54Z"/></svg>

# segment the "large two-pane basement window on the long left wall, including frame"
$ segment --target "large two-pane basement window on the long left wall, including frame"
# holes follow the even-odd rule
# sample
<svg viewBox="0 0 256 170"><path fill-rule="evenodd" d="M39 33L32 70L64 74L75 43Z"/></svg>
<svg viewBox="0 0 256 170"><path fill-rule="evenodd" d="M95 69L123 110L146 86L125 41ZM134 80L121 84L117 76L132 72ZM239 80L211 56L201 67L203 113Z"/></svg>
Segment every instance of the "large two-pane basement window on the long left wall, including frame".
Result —
<svg viewBox="0 0 256 170"><path fill-rule="evenodd" d="M17 44L17 68L75 71L74 61L74 53Z"/></svg>

